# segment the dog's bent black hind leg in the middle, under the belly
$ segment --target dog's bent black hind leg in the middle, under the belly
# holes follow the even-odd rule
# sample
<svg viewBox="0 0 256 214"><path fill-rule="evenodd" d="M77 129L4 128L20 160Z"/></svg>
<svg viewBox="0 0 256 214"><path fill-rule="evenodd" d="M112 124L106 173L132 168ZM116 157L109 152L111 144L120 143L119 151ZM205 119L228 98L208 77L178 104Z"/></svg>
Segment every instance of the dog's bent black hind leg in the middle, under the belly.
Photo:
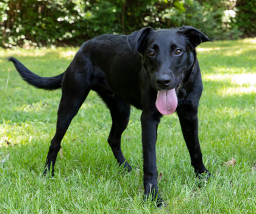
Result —
<svg viewBox="0 0 256 214"><path fill-rule="evenodd" d="M132 167L126 161L121 150L121 136L129 123L130 105L124 103L116 95L107 95L101 91L97 92L110 109L112 117L112 127L107 142L112 148L113 154L119 165L123 166L124 170L130 171L132 170Z"/></svg>

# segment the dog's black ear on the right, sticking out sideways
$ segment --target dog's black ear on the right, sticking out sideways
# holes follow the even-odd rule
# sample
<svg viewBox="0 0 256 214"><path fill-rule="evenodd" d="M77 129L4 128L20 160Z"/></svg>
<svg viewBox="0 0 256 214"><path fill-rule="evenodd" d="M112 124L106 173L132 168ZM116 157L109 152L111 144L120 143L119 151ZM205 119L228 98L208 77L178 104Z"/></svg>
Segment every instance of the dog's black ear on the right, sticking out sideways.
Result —
<svg viewBox="0 0 256 214"><path fill-rule="evenodd" d="M193 49L196 48L196 46L199 46L199 44L204 43L205 41L212 41L200 30L197 30L196 28L191 26L180 27L177 32L182 33L188 38Z"/></svg>

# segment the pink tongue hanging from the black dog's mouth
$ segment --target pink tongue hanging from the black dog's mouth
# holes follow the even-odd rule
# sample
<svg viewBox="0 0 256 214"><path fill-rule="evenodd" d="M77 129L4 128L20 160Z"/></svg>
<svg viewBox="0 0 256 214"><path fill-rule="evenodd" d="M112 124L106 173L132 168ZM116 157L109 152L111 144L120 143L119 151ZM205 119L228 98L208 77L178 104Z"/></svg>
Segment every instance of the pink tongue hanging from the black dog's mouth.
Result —
<svg viewBox="0 0 256 214"><path fill-rule="evenodd" d="M172 114L178 105L175 89L158 91L155 106L161 114Z"/></svg>

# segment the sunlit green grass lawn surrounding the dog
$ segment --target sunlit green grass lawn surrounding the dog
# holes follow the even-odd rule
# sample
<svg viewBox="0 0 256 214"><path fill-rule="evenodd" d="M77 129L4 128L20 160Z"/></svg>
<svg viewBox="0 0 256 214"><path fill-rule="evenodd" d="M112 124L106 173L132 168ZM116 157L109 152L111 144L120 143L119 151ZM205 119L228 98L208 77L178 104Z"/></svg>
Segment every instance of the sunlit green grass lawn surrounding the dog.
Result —
<svg viewBox="0 0 256 214"><path fill-rule="evenodd" d="M62 141L54 178L41 178L54 136L59 91L21 80L6 58L18 58L44 77L60 74L77 49L0 49L0 213L256 213L256 39L198 47L204 92L199 138L215 176L195 178L176 114L158 128L157 165L166 207L143 204L141 112L132 108L123 134L123 173L107 143L104 103L90 92ZM236 160L235 167L224 162Z"/></svg>

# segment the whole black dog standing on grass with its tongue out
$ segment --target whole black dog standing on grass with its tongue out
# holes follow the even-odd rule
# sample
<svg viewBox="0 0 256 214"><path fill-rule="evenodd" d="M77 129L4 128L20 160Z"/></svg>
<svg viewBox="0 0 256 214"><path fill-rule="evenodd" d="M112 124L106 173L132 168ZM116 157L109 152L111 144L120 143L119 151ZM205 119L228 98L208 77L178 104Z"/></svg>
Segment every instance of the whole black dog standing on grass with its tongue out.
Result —
<svg viewBox="0 0 256 214"><path fill-rule="evenodd" d="M10 57L21 77L42 89L62 88L57 128L46 159L46 174L54 164L60 142L90 90L104 100L112 116L108 143L120 165L132 170L121 151L121 135L130 105L142 109L144 194L157 200L155 143L162 114L177 111L183 137L197 175L210 173L202 162L198 139L197 108L203 86L196 46L210 41L194 27L153 30L146 27L126 35L101 35L85 42L63 74L40 77Z"/></svg>

